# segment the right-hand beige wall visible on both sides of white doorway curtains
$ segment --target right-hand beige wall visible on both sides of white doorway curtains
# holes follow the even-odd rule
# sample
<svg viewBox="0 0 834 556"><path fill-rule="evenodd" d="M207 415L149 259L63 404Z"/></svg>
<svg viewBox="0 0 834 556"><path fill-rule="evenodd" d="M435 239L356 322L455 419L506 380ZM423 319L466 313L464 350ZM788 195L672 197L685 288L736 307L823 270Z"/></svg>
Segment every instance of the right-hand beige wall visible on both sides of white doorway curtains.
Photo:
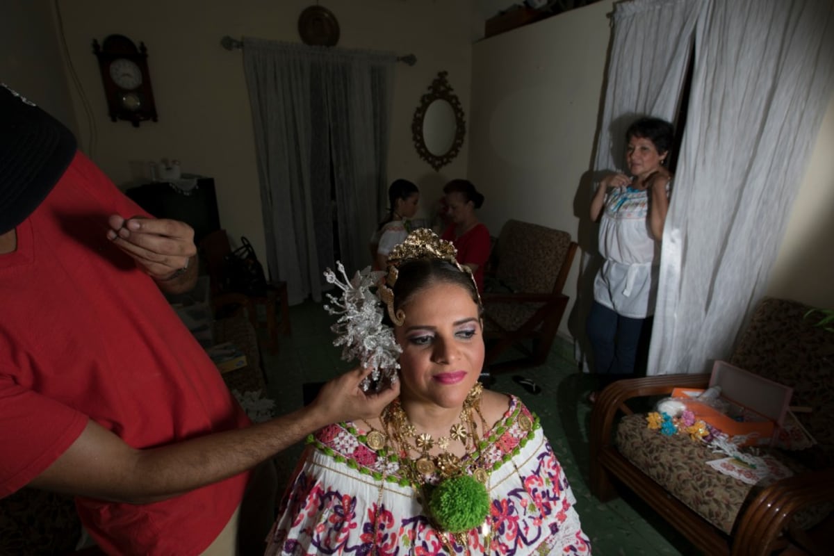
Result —
<svg viewBox="0 0 834 556"><path fill-rule="evenodd" d="M560 228L585 249L595 227L591 150L599 112L613 2L580 8L476 43L472 60L470 178L486 196L481 219L497 235L508 218ZM834 98L768 293L834 307ZM565 286L570 315L580 256ZM560 333L578 323L565 317Z"/></svg>

